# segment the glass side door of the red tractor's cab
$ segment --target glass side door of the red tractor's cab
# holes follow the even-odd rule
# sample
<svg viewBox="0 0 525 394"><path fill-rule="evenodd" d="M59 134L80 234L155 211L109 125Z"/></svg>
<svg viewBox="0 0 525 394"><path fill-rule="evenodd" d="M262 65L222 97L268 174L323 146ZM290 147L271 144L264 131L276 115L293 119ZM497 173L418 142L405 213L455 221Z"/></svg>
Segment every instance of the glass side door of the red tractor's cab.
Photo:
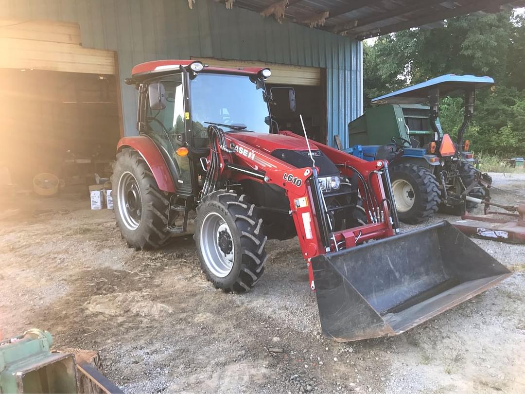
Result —
<svg viewBox="0 0 525 394"><path fill-rule="evenodd" d="M159 147L170 167L177 193L192 193L190 159L187 155L184 86L181 74L148 81L139 128ZM183 149L180 149L183 148Z"/></svg>

